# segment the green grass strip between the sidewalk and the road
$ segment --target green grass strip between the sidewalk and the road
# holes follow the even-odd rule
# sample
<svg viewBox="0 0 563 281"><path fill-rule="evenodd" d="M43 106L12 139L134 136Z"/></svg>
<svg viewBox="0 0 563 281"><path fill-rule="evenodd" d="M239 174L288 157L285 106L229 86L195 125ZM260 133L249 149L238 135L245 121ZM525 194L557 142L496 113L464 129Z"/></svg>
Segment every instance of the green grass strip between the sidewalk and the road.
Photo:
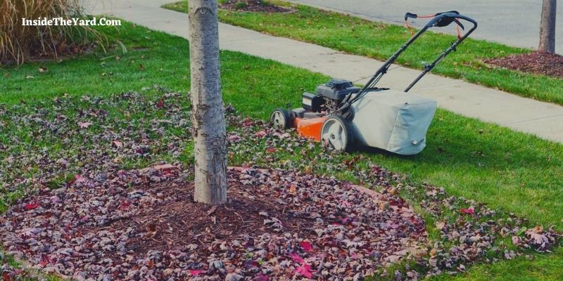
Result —
<svg viewBox="0 0 563 281"><path fill-rule="evenodd" d="M289 5L281 1L273 2ZM181 1L167 4L164 8L186 13L187 3L187 1ZM410 38L410 32L405 27L398 25L371 22L349 15L322 11L310 6L291 6L296 10L294 13L220 11L219 18L222 22L251 30L289 37L379 60L386 60ZM476 20L479 21L479 18ZM444 28L453 29L454 27ZM398 58L397 63L422 69L425 63L435 57L436 52L445 50L453 41L455 41L453 35L426 32ZM450 53L448 58L432 71L519 96L563 105L563 79L503 70L483 63L483 59L486 58L527 52L529 50L524 48L514 48L469 38L457 48L455 53Z"/></svg>

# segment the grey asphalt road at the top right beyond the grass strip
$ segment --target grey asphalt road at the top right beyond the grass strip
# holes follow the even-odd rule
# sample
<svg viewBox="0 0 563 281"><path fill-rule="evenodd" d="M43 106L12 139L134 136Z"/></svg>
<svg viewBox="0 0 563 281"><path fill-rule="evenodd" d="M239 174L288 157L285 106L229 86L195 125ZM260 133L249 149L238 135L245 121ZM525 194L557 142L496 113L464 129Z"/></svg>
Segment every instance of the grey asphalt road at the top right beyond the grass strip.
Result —
<svg viewBox="0 0 563 281"><path fill-rule="evenodd" d="M294 0L343 11L354 15L403 25L405 12L425 15L443 11L460 11L474 18L479 27L472 37L497 41L512 46L538 47L541 0ZM555 51L563 53L563 2L557 5ZM423 19L410 20L411 25L424 26ZM454 33L445 27L442 32Z"/></svg>

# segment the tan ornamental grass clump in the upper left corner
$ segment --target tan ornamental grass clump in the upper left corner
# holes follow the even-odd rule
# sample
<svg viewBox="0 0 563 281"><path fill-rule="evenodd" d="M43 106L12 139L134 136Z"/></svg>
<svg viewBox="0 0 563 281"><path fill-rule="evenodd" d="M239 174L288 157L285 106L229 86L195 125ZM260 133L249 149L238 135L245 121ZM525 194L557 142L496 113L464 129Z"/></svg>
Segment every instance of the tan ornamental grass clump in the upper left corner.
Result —
<svg viewBox="0 0 563 281"><path fill-rule="evenodd" d="M80 0L0 0L0 64L81 53L107 38L87 25L23 25L29 20L84 18Z"/></svg>

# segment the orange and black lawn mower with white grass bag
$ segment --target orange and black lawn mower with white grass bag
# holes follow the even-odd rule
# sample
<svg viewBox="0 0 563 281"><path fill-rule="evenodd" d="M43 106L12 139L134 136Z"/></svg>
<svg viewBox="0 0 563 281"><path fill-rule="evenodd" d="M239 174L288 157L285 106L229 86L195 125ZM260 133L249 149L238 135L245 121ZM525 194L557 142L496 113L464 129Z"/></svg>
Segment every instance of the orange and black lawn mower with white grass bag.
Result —
<svg viewBox="0 0 563 281"><path fill-rule="evenodd" d="M409 18L431 18L418 32L408 25ZM460 20L471 22L473 27L464 35ZM457 40L439 54L434 62L424 65L421 74L407 86L405 91L378 88L375 85L389 70L400 53L430 27L445 27L455 23ZM451 51L455 51L469 34L477 27L472 18L460 15L457 11L419 16L405 14L405 25L412 37L401 46L391 58L362 88L352 82L331 79L317 86L315 93L303 93L302 107L290 110L279 108L270 115L274 126L293 127L301 136L313 138L334 150L350 150L355 145L380 148L400 155L415 155L426 146L428 130L437 103L435 100L407 93L412 86L430 72Z"/></svg>

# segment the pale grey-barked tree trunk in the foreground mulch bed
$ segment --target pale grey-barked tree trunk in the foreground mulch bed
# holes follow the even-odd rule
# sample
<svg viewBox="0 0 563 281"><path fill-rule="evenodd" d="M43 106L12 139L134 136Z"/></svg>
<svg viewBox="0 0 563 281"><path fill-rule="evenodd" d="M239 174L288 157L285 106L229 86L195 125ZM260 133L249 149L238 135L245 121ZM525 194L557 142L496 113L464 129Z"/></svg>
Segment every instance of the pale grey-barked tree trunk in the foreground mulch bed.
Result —
<svg viewBox="0 0 563 281"><path fill-rule="evenodd" d="M217 0L189 1L191 120L196 202L227 201L227 145L221 96Z"/></svg>

